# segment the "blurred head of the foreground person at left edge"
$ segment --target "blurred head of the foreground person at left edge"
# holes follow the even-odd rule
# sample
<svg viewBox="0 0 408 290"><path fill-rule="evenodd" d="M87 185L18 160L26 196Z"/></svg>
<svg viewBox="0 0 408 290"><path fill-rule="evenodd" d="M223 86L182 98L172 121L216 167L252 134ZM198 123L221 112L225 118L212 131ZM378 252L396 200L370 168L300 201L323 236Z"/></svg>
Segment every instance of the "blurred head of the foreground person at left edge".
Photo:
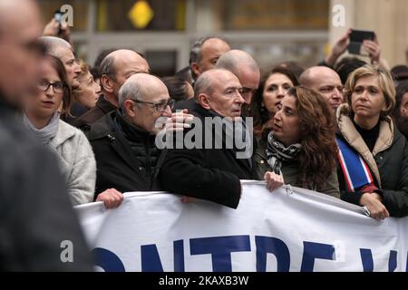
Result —
<svg viewBox="0 0 408 290"><path fill-rule="evenodd" d="M0 1L0 91L8 102L18 104L37 82L41 58L35 48L41 33L34 1Z"/></svg>

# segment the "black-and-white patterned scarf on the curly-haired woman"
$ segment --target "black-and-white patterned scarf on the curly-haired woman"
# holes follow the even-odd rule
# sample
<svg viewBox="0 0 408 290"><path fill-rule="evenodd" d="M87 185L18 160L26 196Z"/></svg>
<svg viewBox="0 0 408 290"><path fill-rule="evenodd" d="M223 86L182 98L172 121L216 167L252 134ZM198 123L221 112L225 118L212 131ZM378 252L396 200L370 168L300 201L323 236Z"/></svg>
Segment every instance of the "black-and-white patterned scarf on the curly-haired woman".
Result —
<svg viewBox="0 0 408 290"><path fill-rule="evenodd" d="M282 162L295 160L297 154L302 149L299 143L285 147L284 144L274 138L273 131L267 135L267 164L276 174L282 174Z"/></svg>

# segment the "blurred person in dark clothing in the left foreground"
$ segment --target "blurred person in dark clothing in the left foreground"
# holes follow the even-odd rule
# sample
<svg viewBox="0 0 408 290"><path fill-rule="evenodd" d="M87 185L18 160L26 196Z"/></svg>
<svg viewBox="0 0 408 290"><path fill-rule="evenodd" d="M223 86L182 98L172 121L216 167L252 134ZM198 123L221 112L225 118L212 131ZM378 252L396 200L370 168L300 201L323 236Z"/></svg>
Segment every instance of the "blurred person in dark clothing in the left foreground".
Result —
<svg viewBox="0 0 408 290"><path fill-rule="evenodd" d="M92 256L52 153L15 116L42 62L38 7L0 2L0 270L92 271ZM73 243L63 263L62 242Z"/></svg>

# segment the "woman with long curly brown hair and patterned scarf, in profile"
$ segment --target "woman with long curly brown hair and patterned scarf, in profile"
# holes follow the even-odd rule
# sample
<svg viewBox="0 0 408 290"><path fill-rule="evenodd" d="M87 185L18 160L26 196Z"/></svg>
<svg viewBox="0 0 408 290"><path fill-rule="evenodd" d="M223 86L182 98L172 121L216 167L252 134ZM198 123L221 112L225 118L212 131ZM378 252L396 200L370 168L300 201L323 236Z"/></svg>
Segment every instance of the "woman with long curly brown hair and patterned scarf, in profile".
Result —
<svg viewBox="0 0 408 290"><path fill-rule="evenodd" d="M255 154L267 189L283 184L339 198L335 167L335 119L325 97L305 87L291 88L277 105L273 131Z"/></svg>

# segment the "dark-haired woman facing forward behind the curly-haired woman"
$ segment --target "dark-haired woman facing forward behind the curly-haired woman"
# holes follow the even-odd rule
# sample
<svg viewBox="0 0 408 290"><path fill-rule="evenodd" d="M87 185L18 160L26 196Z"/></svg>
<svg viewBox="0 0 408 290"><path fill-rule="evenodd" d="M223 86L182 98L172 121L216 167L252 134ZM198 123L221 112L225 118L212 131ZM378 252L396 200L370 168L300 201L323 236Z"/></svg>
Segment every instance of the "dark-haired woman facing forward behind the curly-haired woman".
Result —
<svg viewBox="0 0 408 290"><path fill-rule="evenodd" d="M282 66L262 74L248 112L248 115L254 118L254 133L258 139L262 137L263 131L270 130L277 105L287 90L298 84L295 74Z"/></svg>

